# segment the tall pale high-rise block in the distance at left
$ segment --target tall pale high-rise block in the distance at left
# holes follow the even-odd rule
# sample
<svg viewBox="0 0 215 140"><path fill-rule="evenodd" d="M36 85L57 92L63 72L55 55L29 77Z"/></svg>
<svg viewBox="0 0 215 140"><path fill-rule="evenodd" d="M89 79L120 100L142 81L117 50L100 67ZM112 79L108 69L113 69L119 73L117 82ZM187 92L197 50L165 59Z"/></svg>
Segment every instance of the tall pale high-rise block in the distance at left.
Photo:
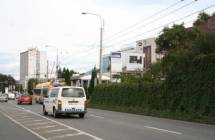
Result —
<svg viewBox="0 0 215 140"><path fill-rule="evenodd" d="M47 77L47 53L36 48L20 53L20 83L25 85L30 78Z"/></svg>

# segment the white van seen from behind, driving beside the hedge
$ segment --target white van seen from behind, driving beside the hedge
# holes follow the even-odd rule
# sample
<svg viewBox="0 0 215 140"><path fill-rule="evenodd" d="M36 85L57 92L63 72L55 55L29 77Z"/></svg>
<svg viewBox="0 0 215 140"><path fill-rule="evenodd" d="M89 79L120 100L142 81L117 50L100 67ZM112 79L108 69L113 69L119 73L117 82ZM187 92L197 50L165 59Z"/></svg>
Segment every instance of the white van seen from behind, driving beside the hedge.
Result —
<svg viewBox="0 0 215 140"><path fill-rule="evenodd" d="M54 87L44 98L43 114L53 114L57 118L60 114L78 114L84 118L86 113L86 94L82 87Z"/></svg>

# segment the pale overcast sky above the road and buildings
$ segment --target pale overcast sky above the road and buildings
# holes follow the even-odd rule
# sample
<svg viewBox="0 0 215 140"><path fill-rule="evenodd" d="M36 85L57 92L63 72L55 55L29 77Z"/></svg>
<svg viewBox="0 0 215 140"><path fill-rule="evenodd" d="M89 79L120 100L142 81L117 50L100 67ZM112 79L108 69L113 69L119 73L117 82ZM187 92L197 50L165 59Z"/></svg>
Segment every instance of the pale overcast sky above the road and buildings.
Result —
<svg viewBox="0 0 215 140"><path fill-rule="evenodd" d="M180 8L193 1L184 0L166 12L151 16L177 1L0 0L0 73L19 79L19 54L32 47L47 51L50 64L58 48L61 67L85 72L98 66L99 19L81 15L81 12L97 13L104 18L104 53L109 53L132 46L135 40L154 37L161 28L147 31L215 4L215 0L198 0ZM176 9L180 10L173 12ZM214 11L215 8L206 10ZM174 23L185 22L186 26L191 26L196 16ZM127 28L137 22L140 23L137 28ZM116 36L119 31L123 32ZM141 33L144 34L139 35Z"/></svg>

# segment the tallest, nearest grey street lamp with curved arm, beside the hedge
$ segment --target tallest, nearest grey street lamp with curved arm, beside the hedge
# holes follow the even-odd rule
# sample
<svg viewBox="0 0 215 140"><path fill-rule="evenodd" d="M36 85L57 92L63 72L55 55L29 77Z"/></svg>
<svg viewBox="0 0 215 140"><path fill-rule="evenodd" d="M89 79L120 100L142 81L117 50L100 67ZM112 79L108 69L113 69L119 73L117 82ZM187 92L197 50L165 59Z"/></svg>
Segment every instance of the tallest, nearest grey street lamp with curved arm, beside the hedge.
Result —
<svg viewBox="0 0 215 140"><path fill-rule="evenodd" d="M99 84L102 82L102 46L103 46L103 32L104 32L104 19L95 13L82 12L82 15L94 15L100 20L100 54L99 54Z"/></svg>

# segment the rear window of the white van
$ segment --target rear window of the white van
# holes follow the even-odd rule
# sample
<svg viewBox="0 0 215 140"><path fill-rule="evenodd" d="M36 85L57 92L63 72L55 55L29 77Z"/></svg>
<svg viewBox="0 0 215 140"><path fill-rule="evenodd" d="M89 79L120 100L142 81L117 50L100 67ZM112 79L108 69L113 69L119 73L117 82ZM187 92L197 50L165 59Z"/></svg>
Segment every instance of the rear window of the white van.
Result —
<svg viewBox="0 0 215 140"><path fill-rule="evenodd" d="M85 97L83 89L80 88L63 88L62 97Z"/></svg>

